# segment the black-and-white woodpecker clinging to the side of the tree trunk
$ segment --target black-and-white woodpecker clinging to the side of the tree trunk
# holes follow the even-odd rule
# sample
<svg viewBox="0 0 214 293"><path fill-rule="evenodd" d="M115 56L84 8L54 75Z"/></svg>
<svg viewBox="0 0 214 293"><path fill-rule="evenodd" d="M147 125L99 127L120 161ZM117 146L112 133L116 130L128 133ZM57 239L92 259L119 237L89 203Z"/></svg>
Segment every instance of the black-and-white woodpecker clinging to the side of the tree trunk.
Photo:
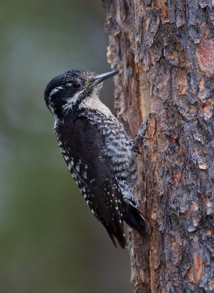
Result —
<svg viewBox="0 0 214 293"><path fill-rule="evenodd" d="M114 246L118 241L125 249L124 221L146 236L133 182L147 120L133 140L100 101L103 81L118 72L97 75L69 69L50 81L44 99L54 115L54 132L74 181Z"/></svg>

